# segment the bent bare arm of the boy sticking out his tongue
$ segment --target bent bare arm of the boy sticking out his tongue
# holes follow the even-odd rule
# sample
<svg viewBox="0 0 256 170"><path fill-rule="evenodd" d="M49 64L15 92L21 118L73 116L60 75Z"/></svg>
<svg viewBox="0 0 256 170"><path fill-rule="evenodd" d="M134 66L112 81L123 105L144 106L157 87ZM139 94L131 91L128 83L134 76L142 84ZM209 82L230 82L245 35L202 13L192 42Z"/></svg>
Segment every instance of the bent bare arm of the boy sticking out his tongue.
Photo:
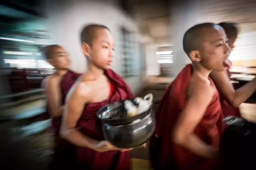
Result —
<svg viewBox="0 0 256 170"><path fill-rule="evenodd" d="M197 86L189 95L187 104L174 127L173 141L201 157L215 157L216 151L194 134L213 93L208 85Z"/></svg>

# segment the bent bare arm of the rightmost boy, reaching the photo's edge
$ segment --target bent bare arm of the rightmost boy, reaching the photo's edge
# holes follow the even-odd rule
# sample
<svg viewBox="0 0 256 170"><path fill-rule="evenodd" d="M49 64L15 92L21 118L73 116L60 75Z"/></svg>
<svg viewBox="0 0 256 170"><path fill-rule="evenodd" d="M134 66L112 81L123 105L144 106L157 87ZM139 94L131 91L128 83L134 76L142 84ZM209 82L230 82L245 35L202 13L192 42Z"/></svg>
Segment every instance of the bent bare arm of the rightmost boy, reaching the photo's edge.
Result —
<svg viewBox="0 0 256 170"><path fill-rule="evenodd" d="M210 78L213 79L218 91L224 96L226 101L234 107L239 107L256 90L256 78L236 90L234 90L230 83L230 78L226 71L212 71Z"/></svg>

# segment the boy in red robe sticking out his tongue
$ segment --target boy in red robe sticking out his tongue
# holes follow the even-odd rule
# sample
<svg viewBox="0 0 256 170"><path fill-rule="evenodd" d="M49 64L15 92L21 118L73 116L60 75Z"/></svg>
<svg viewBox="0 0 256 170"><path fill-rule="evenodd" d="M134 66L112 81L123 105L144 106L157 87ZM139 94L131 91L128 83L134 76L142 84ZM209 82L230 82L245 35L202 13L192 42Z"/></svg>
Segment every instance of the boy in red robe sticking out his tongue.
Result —
<svg viewBox="0 0 256 170"><path fill-rule="evenodd" d="M183 49L192 64L167 87L158 105L150 158L156 170L215 170L223 114L208 76L227 69L231 49L223 28L214 23L190 28Z"/></svg>

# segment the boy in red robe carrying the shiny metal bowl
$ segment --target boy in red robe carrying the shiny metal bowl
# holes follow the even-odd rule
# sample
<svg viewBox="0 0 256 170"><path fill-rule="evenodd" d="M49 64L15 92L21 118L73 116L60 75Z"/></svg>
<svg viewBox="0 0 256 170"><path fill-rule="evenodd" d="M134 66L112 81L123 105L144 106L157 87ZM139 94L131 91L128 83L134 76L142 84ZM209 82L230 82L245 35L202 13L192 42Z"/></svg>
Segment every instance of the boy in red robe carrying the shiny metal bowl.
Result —
<svg viewBox="0 0 256 170"><path fill-rule="evenodd" d="M104 141L97 111L111 102L132 99L121 76L110 69L114 41L106 26L88 25L81 34L88 71L67 96L61 135L77 146L78 164L87 170L130 170L130 149ZM79 127L79 130L78 130Z"/></svg>

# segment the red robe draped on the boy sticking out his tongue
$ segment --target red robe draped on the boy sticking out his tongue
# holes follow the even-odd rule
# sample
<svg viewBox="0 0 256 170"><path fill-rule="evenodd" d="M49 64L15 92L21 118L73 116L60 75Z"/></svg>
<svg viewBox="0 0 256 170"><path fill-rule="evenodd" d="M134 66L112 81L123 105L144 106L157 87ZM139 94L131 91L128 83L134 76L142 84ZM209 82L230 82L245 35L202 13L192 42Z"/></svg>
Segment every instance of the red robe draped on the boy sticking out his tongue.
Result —
<svg viewBox="0 0 256 170"><path fill-rule="evenodd" d="M174 144L171 133L185 105L186 90L192 72L191 64L178 74L167 87L155 113L156 130L150 140L150 159L156 170L213 170L218 163L212 159L199 157L187 149ZM223 114L216 90L206 112L194 130L194 133L206 144L219 149L219 140L223 131Z"/></svg>

